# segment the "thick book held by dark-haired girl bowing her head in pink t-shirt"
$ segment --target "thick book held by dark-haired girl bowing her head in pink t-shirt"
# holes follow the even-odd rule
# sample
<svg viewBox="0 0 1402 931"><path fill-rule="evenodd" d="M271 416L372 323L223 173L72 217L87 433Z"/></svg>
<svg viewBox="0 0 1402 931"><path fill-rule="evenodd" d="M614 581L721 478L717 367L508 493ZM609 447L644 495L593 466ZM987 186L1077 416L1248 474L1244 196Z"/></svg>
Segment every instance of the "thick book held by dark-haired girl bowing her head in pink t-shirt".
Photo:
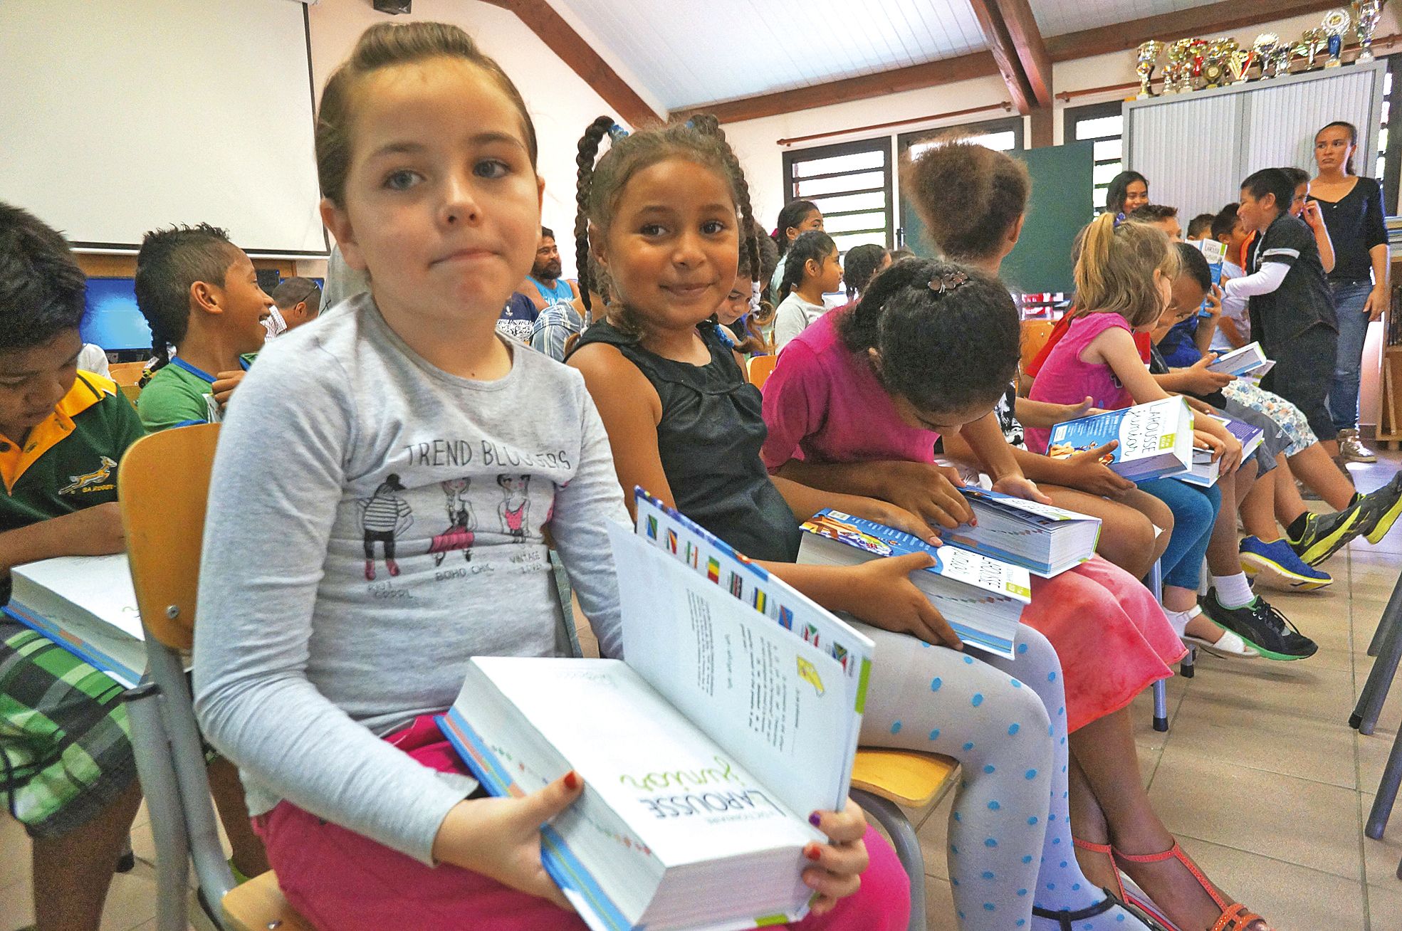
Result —
<svg viewBox="0 0 1402 931"><path fill-rule="evenodd" d="M973 524L939 530L939 538L962 550L1021 565L1049 579L1095 555L1101 519L1014 498L974 485L959 489L974 515Z"/></svg>

